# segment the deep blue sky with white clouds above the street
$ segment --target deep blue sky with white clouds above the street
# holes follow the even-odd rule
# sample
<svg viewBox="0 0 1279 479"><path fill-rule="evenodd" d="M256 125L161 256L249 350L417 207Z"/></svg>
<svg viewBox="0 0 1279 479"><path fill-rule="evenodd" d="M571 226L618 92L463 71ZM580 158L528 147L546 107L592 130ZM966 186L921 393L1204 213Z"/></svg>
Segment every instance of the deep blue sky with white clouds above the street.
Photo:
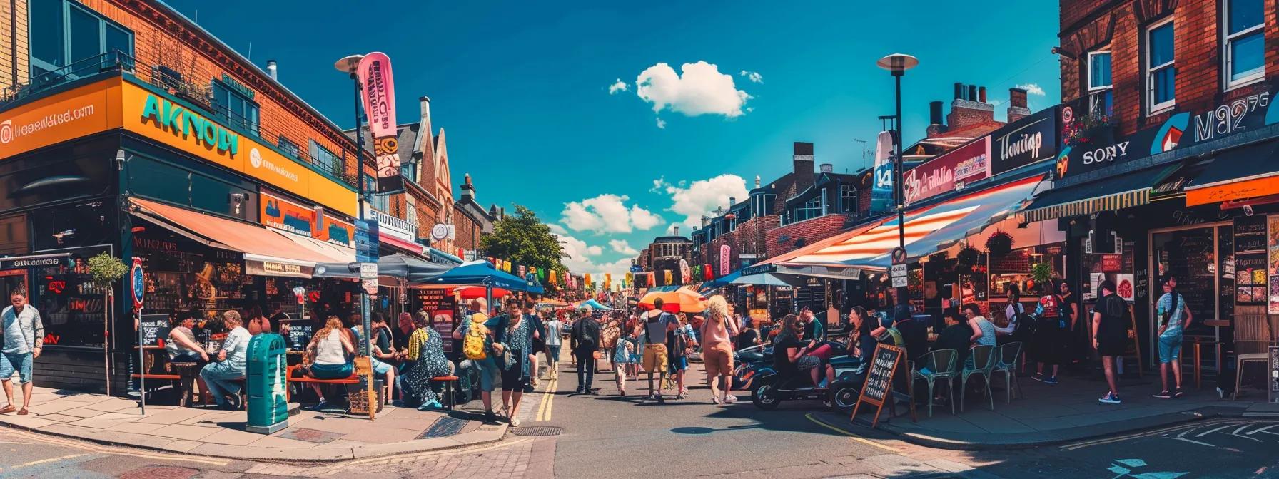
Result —
<svg viewBox="0 0 1279 479"><path fill-rule="evenodd" d="M353 100L334 60L386 52L399 120L426 95L448 132L454 194L469 172L481 203L533 208L582 272L619 271L670 225L785 174L792 142L861 169L854 139L874 148L893 112L883 55L921 61L903 82L908 141L954 82L986 86L996 119L1013 86L1042 89L1032 110L1060 98L1054 1L170 4L258 65L278 60L344 128Z"/></svg>

